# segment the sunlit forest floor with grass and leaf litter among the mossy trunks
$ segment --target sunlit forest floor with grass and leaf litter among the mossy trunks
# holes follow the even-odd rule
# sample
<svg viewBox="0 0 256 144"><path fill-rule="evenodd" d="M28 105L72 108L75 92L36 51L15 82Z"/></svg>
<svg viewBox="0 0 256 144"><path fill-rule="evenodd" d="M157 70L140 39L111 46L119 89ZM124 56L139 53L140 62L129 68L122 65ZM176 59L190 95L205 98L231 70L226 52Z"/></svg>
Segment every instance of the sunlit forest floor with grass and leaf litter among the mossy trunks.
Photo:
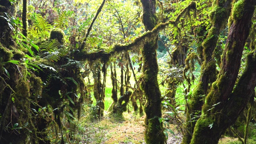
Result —
<svg viewBox="0 0 256 144"><path fill-rule="evenodd" d="M123 116L113 116L105 113L101 120L96 122L84 121L85 132L81 138L82 144L145 144L144 142L144 118L124 112ZM167 144L180 144L182 133L178 126L170 124L174 134L168 133ZM224 137L219 144L231 144L237 142L237 138ZM233 143L232 143L233 144Z"/></svg>

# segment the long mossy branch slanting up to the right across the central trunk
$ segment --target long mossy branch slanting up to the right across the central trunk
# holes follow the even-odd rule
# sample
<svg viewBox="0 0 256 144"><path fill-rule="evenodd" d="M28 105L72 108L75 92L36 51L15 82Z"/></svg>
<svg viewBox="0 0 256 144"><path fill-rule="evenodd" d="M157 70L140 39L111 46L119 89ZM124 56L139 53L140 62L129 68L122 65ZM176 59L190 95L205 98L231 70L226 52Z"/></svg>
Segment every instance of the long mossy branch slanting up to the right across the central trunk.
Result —
<svg viewBox="0 0 256 144"><path fill-rule="evenodd" d="M180 18L186 14L186 12L190 10L196 10L196 2L191 2L180 14L177 16L176 20L168 20L167 22L158 24L155 28L153 28L151 31L144 32L140 36L136 37L133 42L126 43L126 44L115 44L113 46L113 51L109 53L105 53L104 50L100 50L98 52L92 52L88 53L87 51L83 50L85 45L85 40L80 47L80 50L78 50L75 54L76 60L97 60L100 58L109 58L115 53L131 50L132 48L140 48L142 47L146 42L151 41L154 39L155 34L159 32L159 30L163 30L168 26L169 24L176 25ZM89 30L89 29L88 29Z"/></svg>

